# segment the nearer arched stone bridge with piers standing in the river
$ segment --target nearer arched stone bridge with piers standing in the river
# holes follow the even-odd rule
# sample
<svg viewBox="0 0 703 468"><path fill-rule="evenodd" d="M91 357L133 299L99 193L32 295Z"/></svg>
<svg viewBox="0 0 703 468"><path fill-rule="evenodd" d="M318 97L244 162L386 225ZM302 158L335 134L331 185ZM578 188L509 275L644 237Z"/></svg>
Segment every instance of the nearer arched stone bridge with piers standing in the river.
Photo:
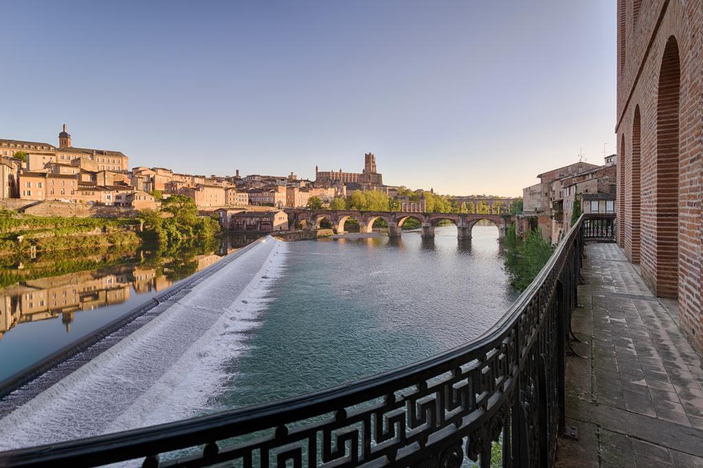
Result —
<svg viewBox="0 0 703 468"><path fill-rule="evenodd" d="M456 225L457 238L460 240L470 239L471 230L478 221L486 219L498 227L498 239L505 238L505 232L512 223L513 216L510 214L463 214L463 213L416 213L416 212L366 212L353 209L329 210L329 209L307 209L307 208L286 208L288 214L288 224L291 228L300 226L303 229L320 228L323 220L332 224L335 233L344 233L344 223L347 219L354 218L359 222L361 233L370 233L373 230L373 223L377 219L382 219L388 223L388 235L390 237L401 235L403 223L410 218L420 221L423 238L434 238L434 227L440 221L451 221Z"/></svg>

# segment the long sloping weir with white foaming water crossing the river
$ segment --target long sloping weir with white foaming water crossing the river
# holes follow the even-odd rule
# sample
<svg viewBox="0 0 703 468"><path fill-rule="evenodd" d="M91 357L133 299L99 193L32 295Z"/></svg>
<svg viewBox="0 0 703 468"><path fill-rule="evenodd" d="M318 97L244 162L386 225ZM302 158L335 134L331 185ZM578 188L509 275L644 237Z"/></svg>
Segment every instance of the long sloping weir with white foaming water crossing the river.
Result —
<svg viewBox="0 0 703 468"><path fill-rule="evenodd" d="M59 365L43 382L32 382L41 391L29 384L6 396L0 450L200 414L227 377L222 364L238 356L232 350L243 351L245 333L258 325L286 249L285 242L266 238L221 260L214 265L219 268L211 267L217 275L201 275L165 298L145 314L146 323L108 349L97 356L95 346L84 351L90 359L82 367L62 372Z"/></svg>

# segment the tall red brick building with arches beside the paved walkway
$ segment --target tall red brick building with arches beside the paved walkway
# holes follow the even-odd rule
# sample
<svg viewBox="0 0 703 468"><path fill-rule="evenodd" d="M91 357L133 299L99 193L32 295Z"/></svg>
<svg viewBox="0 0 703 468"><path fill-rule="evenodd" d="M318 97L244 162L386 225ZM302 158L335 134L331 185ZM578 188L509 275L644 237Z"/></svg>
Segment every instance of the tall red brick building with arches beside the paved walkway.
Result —
<svg viewBox="0 0 703 468"><path fill-rule="evenodd" d="M619 0L617 241L703 351L703 7Z"/></svg>

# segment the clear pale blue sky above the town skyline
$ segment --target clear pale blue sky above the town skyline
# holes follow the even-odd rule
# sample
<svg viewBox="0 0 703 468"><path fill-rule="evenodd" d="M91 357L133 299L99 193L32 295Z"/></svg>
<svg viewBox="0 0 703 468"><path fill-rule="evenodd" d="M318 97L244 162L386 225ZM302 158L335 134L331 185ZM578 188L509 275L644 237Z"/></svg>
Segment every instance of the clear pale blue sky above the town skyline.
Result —
<svg viewBox="0 0 703 468"><path fill-rule="evenodd" d="M519 195L614 152L613 0L12 1L0 138Z"/></svg>

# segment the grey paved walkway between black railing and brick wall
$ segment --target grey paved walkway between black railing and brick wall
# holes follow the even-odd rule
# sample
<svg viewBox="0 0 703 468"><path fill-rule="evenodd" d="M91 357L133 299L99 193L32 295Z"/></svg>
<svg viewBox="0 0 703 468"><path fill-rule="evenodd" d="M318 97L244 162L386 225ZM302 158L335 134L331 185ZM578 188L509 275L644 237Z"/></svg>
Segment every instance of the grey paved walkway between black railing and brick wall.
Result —
<svg viewBox="0 0 703 468"><path fill-rule="evenodd" d="M615 244L586 247L567 358L560 467L703 467L703 368L676 301L652 296Z"/></svg>

